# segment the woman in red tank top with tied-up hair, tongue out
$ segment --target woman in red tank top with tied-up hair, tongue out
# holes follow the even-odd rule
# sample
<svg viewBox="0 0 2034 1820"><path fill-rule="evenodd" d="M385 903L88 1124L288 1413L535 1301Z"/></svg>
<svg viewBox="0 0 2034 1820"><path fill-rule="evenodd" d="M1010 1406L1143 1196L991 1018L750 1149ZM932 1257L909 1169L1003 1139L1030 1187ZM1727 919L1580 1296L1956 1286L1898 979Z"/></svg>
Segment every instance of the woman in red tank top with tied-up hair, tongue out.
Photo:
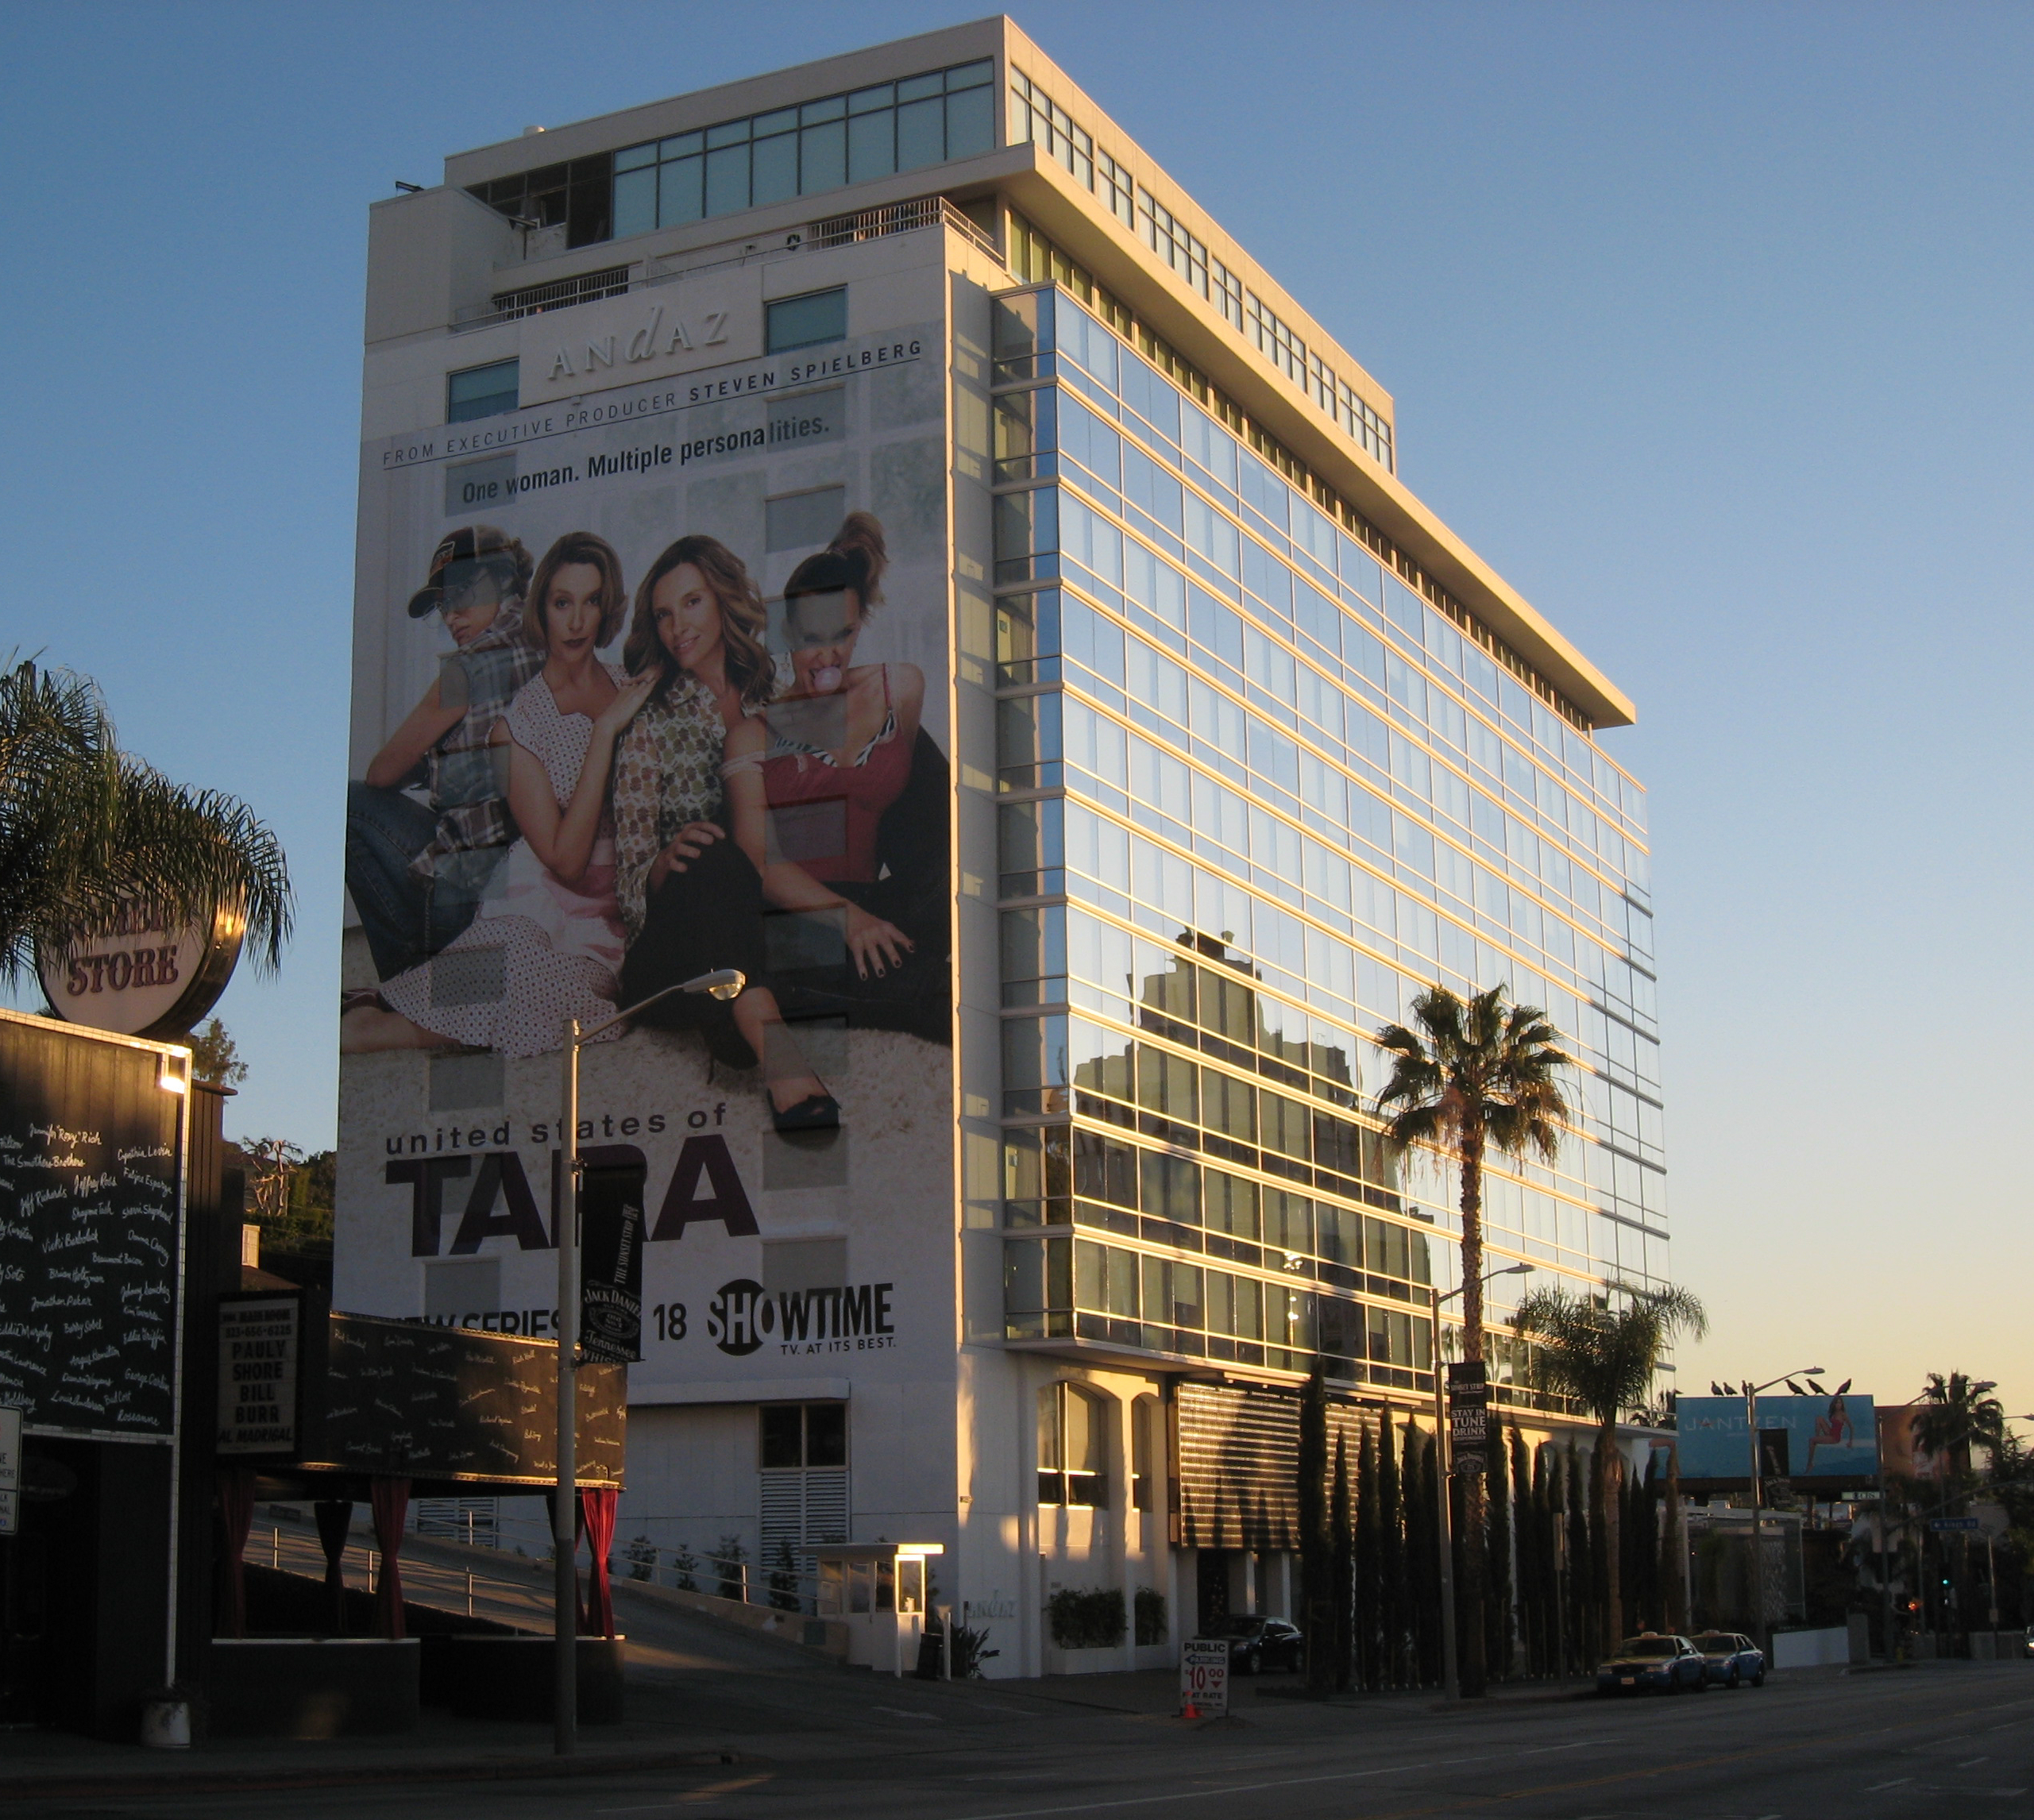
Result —
<svg viewBox="0 0 2034 1820"><path fill-rule="evenodd" d="M854 667L854 641L883 598L883 527L850 512L832 545L783 590L795 681L763 714L728 732L726 783L734 840L783 911L844 923L860 978L883 978L917 946L895 923L830 887L873 885L883 811L911 777L925 673L915 663Z"/></svg>

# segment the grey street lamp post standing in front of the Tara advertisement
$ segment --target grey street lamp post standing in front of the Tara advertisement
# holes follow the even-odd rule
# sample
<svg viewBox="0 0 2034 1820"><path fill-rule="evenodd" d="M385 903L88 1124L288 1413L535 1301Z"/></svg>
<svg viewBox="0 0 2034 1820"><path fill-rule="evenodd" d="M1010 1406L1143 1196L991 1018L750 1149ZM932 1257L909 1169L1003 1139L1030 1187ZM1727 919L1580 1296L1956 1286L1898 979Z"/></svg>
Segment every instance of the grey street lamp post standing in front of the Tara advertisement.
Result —
<svg viewBox="0 0 2034 1820"><path fill-rule="evenodd" d="M580 1367L580 1049L612 1029L624 1017L669 998L673 992L708 992L714 998L736 998L749 980L736 968L720 968L692 980L679 980L661 992L651 992L626 1011L604 1017L582 1031L576 1017L565 1019L565 1167L557 1196L557 1491L551 1497L551 1749L570 1757L580 1735L580 1645L578 1606L580 1576L578 1523L574 1501L580 1493L580 1399L576 1371Z"/></svg>

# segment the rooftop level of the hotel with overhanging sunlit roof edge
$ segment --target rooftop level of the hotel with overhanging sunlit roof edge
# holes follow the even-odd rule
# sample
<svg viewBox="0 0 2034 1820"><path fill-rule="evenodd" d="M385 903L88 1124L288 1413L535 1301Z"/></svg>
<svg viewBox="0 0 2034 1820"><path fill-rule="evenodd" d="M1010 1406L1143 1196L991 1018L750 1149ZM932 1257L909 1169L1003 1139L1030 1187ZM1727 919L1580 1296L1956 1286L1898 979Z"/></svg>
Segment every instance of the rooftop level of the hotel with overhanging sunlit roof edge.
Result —
<svg viewBox="0 0 2034 1820"><path fill-rule="evenodd" d="M370 342L891 232L944 201L1015 279L1088 303L1562 720L1633 720L1401 484L1391 395L1007 18L525 130L450 157L445 183L447 207L486 205L464 234L435 228L474 256L437 287L378 262L399 281L370 285ZM443 319L419 317L419 289Z"/></svg>

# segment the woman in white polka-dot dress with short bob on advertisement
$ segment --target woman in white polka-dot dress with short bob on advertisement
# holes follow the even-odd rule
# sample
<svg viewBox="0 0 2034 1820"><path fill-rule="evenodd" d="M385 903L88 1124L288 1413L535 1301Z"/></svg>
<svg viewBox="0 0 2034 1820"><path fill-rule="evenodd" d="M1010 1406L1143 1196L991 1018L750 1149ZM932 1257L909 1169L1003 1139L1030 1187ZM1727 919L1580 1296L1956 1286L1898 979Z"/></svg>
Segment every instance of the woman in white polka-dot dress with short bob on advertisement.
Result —
<svg viewBox="0 0 2034 1820"><path fill-rule="evenodd" d="M567 1017L592 1023L614 1009L622 929L608 775L653 681L598 657L626 604L620 559L592 531L567 531L537 563L525 634L543 669L490 736L519 830L502 889L456 942L340 1019L342 1051L541 1055L559 1047Z"/></svg>

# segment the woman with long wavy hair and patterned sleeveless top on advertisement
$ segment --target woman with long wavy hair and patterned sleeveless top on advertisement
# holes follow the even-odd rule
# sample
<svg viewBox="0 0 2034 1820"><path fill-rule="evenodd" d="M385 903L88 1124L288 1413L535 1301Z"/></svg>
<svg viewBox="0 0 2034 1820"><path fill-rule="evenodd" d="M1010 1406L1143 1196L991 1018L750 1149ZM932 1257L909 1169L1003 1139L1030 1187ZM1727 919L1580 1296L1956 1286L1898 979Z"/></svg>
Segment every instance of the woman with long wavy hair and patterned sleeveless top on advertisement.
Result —
<svg viewBox="0 0 2034 1820"><path fill-rule="evenodd" d="M769 700L775 667L763 596L718 537L681 537L637 584L622 647L641 714L614 765L616 885L629 958L624 1003L718 968L749 986L732 1005L673 994L641 1023L698 1029L716 1061L763 1066L779 1131L826 1131L840 1106L805 1061L769 984L763 893L744 844L722 826L720 767Z"/></svg>

